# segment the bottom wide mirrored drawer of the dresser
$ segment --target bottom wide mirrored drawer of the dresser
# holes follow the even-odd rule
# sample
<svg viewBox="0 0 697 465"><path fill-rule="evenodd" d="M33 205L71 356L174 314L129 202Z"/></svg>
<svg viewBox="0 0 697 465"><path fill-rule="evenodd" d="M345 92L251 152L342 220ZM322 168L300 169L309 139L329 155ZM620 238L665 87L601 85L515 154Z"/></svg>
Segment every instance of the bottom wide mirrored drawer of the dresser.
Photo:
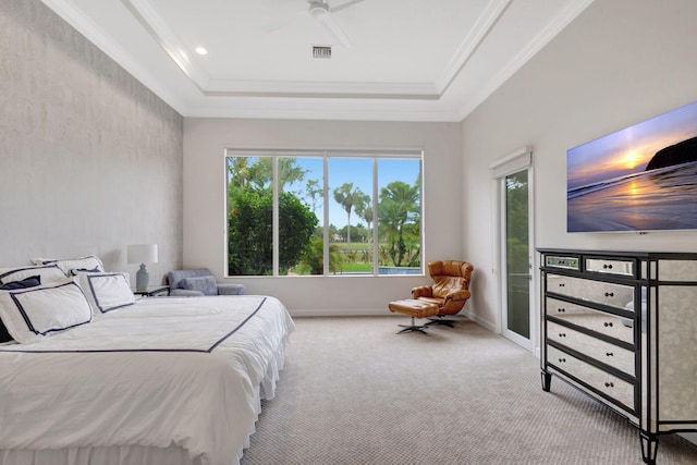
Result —
<svg viewBox="0 0 697 465"><path fill-rule="evenodd" d="M547 347L548 364L584 381L629 409L634 409L634 384L596 368L557 347Z"/></svg>

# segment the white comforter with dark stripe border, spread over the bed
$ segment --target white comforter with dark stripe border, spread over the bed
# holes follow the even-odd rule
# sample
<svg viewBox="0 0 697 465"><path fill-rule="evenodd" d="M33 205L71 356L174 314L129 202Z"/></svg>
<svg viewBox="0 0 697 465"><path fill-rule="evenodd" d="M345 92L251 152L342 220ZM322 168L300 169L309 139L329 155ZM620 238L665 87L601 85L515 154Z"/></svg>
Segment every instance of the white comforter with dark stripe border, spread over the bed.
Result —
<svg viewBox="0 0 697 465"><path fill-rule="evenodd" d="M173 444L235 463L293 330L273 297L145 298L0 346L0 450Z"/></svg>

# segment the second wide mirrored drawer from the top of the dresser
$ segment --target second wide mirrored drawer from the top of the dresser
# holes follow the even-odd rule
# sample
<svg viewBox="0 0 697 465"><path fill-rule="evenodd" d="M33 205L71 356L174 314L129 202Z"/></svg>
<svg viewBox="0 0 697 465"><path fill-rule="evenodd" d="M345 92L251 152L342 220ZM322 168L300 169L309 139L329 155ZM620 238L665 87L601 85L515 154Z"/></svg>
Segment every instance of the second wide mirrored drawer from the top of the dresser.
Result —
<svg viewBox="0 0 697 465"><path fill-rule="evenodd" d="M633 320L628 318L595 310L583 305L570 304L553 297L547 297L545 301L549 316L635 344Z"/></svg>

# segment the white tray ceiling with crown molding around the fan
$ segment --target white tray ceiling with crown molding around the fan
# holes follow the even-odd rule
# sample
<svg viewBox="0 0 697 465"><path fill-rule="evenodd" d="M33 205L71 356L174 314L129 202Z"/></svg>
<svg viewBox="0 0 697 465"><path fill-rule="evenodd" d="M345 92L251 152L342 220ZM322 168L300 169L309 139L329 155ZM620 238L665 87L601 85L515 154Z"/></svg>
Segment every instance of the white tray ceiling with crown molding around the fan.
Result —
<svg viewBox="0 0 697 465"><path fill-rule="evenodd" d="M184 117L455 122L594 0L42 1Z"/></svg>

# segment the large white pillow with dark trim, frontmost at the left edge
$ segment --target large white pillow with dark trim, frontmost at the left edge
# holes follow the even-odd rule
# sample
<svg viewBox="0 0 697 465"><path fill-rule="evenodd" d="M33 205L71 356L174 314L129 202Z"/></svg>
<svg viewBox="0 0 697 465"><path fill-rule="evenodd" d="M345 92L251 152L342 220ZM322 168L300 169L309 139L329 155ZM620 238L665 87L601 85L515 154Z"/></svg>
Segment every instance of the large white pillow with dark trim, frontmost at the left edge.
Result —
<svg viewBox="0 0 697 465"><path fill-rule="evenodd" d="M72 280L0 293L0 318L12 338L22 344L40 341L91 321L82 290Z"/></svg>

